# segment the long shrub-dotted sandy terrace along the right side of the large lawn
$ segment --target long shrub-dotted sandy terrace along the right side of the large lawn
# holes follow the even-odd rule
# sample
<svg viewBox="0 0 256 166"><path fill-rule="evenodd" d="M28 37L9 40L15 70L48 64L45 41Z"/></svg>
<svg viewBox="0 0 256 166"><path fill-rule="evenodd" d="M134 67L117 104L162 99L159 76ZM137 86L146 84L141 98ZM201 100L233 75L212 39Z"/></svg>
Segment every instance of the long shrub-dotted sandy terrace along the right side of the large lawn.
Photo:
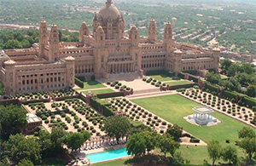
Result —
<svg viewBox="0 0 256 166"><path fill-rule="evenodd" d="M212 109L233 117L243 123L256 127L256 117L253 110L239 106L235 102L219 98L216 95L202 91L201 89L178 89L179 94L190 100L195 100L201 105L209 106Z"/></svg>

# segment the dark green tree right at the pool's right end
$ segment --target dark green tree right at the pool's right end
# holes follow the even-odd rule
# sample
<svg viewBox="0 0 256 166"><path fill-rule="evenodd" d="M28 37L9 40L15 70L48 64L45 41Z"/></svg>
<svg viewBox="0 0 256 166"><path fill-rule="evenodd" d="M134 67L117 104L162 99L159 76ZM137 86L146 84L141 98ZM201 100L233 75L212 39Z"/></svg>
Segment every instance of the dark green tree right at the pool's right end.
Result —
<svg viewBox="0 0 256 166"><path fill-rule="evenodd" d="M146 152L146 140L141 133L131 135L126 143L126 151L129 155L141 156Z"/></svg>

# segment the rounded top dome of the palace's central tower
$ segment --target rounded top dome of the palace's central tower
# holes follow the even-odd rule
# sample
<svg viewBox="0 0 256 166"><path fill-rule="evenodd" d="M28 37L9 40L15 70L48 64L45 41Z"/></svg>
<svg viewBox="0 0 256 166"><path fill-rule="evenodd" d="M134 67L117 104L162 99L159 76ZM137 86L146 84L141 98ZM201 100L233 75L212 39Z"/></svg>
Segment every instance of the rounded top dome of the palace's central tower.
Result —
<svg viewBox="0 0 256 166"><path fill-rule="evenodd" d="M99 11L99 17L102 20L118 20L119 15L119 9L114 6L111 0L108 0Z"/></svg>

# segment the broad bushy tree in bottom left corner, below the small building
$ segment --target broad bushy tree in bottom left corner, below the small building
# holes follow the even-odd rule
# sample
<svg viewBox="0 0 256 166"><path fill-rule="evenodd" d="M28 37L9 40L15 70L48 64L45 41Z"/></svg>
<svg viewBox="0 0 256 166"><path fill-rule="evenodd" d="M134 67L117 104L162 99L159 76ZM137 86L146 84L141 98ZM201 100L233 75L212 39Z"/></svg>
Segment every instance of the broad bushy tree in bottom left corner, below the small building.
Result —
<svg viewBox="0 0 256 166"><path fill-rule="evenodd" d="M8 140L10 156L20 162L21 159L41 163L41 149L37 140L25 138L22 134L10 135Z"/></svg>

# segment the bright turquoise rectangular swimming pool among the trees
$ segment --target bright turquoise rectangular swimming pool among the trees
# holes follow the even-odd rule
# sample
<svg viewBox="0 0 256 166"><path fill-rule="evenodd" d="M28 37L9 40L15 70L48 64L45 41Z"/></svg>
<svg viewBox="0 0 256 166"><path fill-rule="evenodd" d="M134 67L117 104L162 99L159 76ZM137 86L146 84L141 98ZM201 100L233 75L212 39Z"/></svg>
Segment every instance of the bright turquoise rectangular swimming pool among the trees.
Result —
<svg viewBox="0 0 256 166"><path fill-rule="evenodd" d="M94 154L88 154L86 157L90 159L90 163L103 162L106 160L111 160L118 157L127 157L129 156L126 152L126 148L120 148L112 151L99 152Z"/></svg>

